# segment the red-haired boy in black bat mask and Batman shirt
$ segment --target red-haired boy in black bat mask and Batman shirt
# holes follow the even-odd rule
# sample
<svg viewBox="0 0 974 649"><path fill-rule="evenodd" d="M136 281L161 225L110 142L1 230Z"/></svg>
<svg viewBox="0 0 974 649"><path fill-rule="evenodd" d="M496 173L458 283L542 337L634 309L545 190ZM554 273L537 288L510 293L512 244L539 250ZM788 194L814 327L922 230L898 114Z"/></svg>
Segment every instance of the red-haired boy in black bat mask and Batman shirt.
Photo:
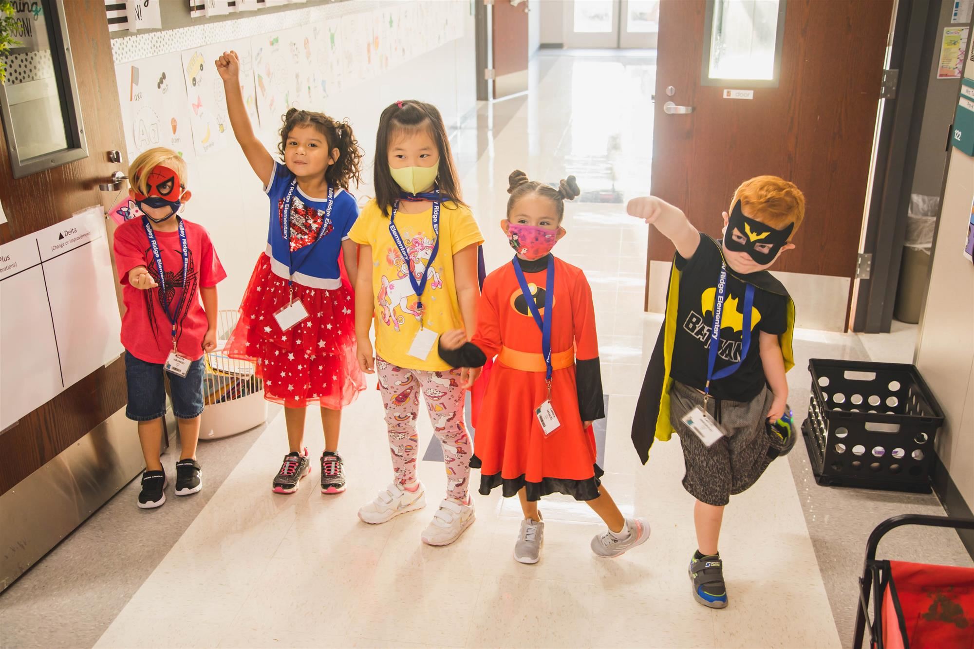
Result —
<svg viewBox="0 0 974 649"><path fill-rule="evenodd" d="M632 440L645 464L655 437L680 435L683 485L696 498L693 597L724 608L717 549L724 507L790 441L768 423L788 409L795 304L768 268L795 248L790 242L805 218L805 196L776 176L747 180L734 192L730 215L723 214L722 242L653 196L633 199L628 212L655 225L677 250Z"/></svg>

